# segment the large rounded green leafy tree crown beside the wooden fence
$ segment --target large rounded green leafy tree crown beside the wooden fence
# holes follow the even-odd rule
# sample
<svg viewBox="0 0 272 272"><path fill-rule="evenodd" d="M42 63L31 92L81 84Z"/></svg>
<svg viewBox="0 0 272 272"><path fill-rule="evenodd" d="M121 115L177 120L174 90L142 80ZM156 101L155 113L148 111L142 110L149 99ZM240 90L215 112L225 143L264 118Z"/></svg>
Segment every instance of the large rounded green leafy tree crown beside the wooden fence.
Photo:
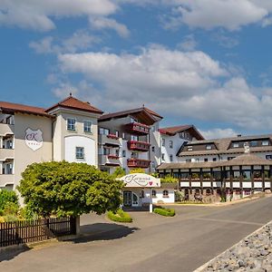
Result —
<svg viewBox="0 0 272 272"><path fill-rule="evenodd" d="M85 163L33 163L22 177L17 189L24 203L44 217L102 214L121 205L122 181Z"/></svg>

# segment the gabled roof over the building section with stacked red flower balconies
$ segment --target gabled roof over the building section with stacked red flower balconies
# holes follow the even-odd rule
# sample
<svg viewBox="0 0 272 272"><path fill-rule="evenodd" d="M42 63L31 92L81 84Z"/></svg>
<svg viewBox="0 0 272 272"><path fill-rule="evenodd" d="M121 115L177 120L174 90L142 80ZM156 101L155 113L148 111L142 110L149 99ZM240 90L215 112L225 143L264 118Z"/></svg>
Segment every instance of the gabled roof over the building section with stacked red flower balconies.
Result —
<svg viewBox="0 0 272 272"><path fill-rule="evenodd" d="M123 118L130 115L137 119L140 119L141 121L144 121L144 123L148 125L152 125L153 123L157 121L155 116L153 116L153 114L147 111L147 109L144 107L121 111L121 112L112 112L112 113L103 114L99 118L98 121L110 121L112 119Z"/></svg>

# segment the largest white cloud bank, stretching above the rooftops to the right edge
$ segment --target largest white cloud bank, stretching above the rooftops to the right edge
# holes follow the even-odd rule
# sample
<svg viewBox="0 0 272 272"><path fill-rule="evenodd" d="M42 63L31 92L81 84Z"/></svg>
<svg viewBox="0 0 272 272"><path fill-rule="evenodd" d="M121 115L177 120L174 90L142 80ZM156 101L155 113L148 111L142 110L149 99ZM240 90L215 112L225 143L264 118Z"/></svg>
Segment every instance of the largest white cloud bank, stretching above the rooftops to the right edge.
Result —
<svg viewBox="0 0 272 272"><path fill-rule="evenodd" d="M144 103L176 118L230 123L246 131L272 129L272 95L203 52L153 45L139 54L61 54L59 63L63 73L83 73L100 86L79 92L100 107L105 101L111 101L111 110Z"/></svg>

